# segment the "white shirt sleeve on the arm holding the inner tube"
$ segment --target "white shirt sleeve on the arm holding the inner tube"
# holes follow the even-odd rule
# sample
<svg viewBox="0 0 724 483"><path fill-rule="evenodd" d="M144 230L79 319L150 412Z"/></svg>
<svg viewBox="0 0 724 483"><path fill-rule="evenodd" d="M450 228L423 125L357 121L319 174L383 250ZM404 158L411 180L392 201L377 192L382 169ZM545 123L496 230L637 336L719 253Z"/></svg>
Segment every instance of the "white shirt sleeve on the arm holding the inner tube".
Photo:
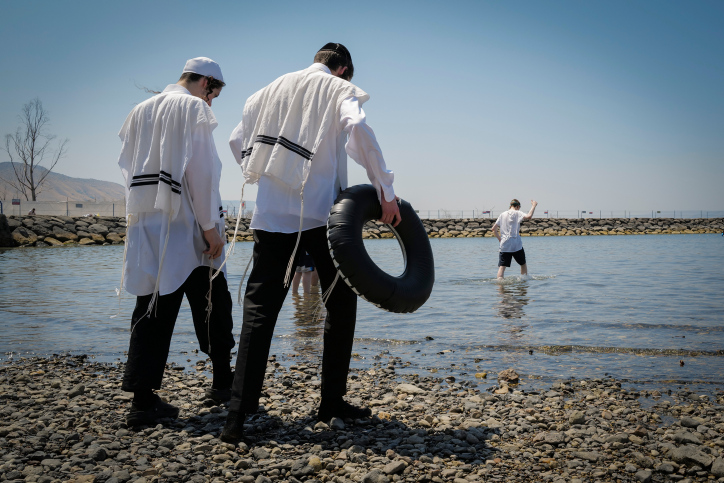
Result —
<svg viewBox="0 0 724 483"><path fill-rule="evenodd" d="M392 188L392 182L395 173L387 169L375 133L367 124L365 112L356 97L350 96L342 101L339 122L341 129L349 135L345 145L347 154L365 168L367 177L377 189L380 200L384 194L386 201L393 201L395 190Z"/></svg>

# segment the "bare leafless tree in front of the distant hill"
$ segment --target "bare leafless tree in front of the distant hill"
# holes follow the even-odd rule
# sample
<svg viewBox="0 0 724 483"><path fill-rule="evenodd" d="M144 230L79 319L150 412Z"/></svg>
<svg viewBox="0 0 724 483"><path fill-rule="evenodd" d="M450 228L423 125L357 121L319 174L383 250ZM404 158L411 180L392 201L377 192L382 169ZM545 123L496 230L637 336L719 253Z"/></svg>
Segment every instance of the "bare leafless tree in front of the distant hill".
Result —
<svg viewBox="0 0 724 483"><path fill-rule="evenodd" d="M18 117L20 126L15 134L5 136L4 148L15 179L0 179L21 192L26 200L37 201L45 178L66 154L68 139L58 141L57 148L52 149L56 136L47 132L50 118L37 97L23 106L23 112ZM46 158L48 166L41 166Z"/></svg>

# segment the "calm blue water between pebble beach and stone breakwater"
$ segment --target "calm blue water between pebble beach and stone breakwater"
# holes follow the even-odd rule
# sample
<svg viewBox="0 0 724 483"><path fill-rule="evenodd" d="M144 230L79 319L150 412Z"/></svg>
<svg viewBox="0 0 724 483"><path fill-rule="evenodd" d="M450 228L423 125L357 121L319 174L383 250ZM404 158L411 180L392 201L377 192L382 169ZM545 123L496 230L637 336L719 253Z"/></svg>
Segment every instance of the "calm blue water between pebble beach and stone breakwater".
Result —
<svg viewBox="0 0 724 483"><path fill-rule="evenodd" d="M360 300L354 365L401 357L405 370L476 380L514 368L524 382L568 377L724 387L724 238L719 235L532 237L530 277L517 265L495 280L497 241L432 239L436 283L414 314L390 314ZM229 262L236 300L251 243ZM373 259L402 272L395 240L370 240ZM135 299L119 301L122 246L0 251L0 358L87 353L124 360ZM290 295L272 354L317 357L318 295ZM241 307L234 309L235 334ZM188 305L170 362L203 358ZM682 366L680 361L684 362ZM478 380L481 386L490 381Z"/></svg>

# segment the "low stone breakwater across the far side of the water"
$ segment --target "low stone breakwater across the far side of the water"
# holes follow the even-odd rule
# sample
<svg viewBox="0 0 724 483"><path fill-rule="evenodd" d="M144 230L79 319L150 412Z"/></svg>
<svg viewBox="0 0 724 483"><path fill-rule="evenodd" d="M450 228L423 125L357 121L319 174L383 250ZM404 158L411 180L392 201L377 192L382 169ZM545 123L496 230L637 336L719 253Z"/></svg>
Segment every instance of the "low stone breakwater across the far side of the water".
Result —
<svg viewBox="0 0 724 483"><path fill-rule="evenodd" d="M249 219L239 224L237 241L252 241ZM494 219L425 219L422 220L430 238L492 237ZM234 235L236 219L226 221L226 234ZM724 218L534 218L521 227L522 236L596 236L642 234L722 233ZM125 218L70 216L0 215L0 247L111 245L123 243ZM365 238L393 238L388 226L369 222L363 230Z"/></svg>

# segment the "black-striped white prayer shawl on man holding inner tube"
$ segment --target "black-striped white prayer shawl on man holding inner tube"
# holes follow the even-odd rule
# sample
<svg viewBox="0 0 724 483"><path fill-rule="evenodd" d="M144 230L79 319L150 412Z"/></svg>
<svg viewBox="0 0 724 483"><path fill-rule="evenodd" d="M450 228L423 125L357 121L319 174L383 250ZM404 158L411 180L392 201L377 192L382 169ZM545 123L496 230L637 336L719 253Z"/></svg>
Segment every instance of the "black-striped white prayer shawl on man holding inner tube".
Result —
<svg viewBox="0 0 724 483"><path fill-rule="evenodd" d="M243 113L241 169L247 183L274 177L302 189L319 143L339 119L348 97L369 95L318 65L283 75L247 99Z"/></svg>

